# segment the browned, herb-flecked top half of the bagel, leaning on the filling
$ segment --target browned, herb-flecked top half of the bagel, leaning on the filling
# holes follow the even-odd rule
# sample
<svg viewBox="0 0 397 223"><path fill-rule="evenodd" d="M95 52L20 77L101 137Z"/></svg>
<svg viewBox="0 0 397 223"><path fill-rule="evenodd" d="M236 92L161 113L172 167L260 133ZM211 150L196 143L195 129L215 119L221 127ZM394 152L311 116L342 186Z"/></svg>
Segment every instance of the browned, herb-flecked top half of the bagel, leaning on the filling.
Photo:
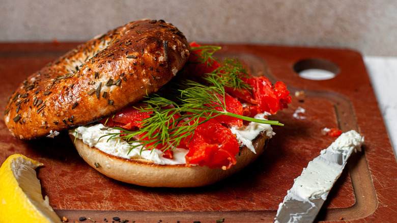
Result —
<svg viewBox="0 0 397 223"><path fill-rule="evenodd" d="M189 53L171 23L130 22L27 77L9 99L5 123L14 136L30 140L94 122L158 91Z"/></svg>

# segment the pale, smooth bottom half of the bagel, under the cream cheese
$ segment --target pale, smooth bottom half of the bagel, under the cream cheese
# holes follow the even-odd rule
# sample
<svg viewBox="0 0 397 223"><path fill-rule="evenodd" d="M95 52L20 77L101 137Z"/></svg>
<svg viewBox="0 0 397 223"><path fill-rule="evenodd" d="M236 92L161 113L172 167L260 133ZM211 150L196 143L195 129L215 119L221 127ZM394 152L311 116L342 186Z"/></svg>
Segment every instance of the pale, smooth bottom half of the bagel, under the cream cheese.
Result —
<svg viewBox="0 0 397 223"><path fill-rule="evenodd" d="M198 165L160 165L146 159L121 158L90 147L74 135L69 135L84 161L100 173L115 180L148 187L199 187L213 184L253 162L263 153L269 141L266 134L259 134L252 141L256 153L243 146L236 155L237 163L228 170L222 170Z"/></svg>

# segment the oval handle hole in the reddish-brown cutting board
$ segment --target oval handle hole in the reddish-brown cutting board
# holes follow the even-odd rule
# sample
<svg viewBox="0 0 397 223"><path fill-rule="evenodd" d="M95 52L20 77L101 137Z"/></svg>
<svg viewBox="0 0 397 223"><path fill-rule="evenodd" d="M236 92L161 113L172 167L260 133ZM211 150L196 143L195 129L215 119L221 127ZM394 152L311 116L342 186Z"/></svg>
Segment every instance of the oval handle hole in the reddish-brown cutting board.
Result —
<svg viewBox="0 0 397 223"><path fill-rule="evenodd" d="M328 60L311 58L294 64L294 71L302 78L309 80L328 80L340 71L339 67Z"/></svg>

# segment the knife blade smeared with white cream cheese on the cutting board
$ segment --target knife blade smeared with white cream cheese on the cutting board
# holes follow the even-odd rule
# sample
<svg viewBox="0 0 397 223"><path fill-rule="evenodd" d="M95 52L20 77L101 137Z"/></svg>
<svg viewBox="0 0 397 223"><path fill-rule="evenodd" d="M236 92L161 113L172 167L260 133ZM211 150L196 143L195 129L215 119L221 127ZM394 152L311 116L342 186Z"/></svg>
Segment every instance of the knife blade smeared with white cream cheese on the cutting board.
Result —
<svg viewBox="0 0 397 223"><path fill-rule="evenodd" d="M294 180L278 207L274 222L313 222L350 155L360 150L363 142L363 136L350 130L322 150Z"/></svg>

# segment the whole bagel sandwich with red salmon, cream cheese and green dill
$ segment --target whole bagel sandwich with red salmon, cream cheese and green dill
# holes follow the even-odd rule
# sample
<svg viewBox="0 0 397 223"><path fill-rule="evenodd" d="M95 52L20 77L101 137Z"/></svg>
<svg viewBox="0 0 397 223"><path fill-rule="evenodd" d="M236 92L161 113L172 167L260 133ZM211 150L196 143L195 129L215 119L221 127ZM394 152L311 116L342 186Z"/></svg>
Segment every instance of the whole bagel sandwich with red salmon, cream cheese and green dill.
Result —
<svg viewBox="0 0 397 223"><path fill-rule="evenodd" d="M189 44L163 20L130 22L27 77L5 122L21 140L68 130L100 173L150 187L215 183L261 155L282 82L253 76L220 47Z"/></svg>

